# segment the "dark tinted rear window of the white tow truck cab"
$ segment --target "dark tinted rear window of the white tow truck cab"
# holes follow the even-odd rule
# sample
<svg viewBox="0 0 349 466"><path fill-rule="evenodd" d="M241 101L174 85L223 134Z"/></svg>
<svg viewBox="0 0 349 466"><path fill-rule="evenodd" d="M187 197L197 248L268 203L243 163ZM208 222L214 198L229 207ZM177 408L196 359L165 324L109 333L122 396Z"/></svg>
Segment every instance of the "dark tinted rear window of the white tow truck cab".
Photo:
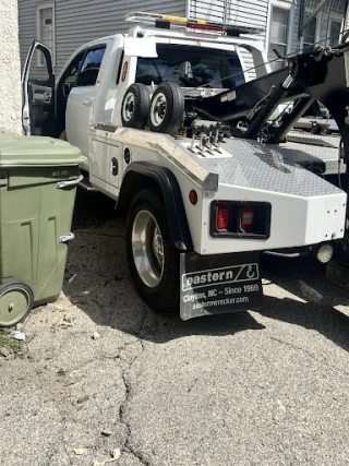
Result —
<svg viewBox="0 0 349 466"><path fill-rule="evenodd" d="M173 44L157 44L156 48L157 58L137 59L136 83L167 81L181 87L210 88L231 88L244 83L234 51Z"/></svg>

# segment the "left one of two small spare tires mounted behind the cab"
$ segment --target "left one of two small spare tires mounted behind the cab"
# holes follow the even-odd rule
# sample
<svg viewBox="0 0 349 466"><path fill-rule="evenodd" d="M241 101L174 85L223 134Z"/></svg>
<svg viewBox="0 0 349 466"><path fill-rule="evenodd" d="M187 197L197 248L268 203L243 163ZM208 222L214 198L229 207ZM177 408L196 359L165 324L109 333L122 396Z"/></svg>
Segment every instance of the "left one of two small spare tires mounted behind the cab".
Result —
<svg viewBox="0 0 349 466"><path fill-rule="evenodd" d="M149 100L149 91L144 84L131 84L122 99L122 124L129 128L144 128L148 118Z"/></svg>

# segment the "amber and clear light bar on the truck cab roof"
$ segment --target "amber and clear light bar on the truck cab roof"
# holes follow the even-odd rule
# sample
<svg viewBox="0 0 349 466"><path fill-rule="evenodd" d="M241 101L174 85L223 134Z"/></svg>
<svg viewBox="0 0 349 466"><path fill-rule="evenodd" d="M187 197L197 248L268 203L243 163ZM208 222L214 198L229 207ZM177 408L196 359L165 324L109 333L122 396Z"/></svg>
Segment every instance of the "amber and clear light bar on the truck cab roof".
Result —
<svg viewBox="0 0 349 466"><path fill-rule="evenodd" d="M155 24L158 27L170 28L173 26L188 27L190 29L209 31L228 36L239 36L240 34L261 34L262 28L241 26L239 24L220 24L214 21L195 20L192 17L171 16L168 14L133 12L125 15L127 21L133 23Z"/></svg>

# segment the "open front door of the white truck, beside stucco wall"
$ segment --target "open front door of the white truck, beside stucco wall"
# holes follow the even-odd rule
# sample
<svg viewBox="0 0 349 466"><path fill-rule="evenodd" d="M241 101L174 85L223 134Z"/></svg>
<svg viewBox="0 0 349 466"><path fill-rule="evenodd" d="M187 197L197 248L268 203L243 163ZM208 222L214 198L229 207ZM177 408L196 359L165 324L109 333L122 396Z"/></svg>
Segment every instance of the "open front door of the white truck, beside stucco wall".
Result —
<svg viewBox="0 0 349 466"><path fill-rule="evenodd" d="M36 52L44 64L43 79L31 76ZM47 124L53 118L55 75L50 49L33 40L22 74L22 128L25 135L46 135Z"/></svg>

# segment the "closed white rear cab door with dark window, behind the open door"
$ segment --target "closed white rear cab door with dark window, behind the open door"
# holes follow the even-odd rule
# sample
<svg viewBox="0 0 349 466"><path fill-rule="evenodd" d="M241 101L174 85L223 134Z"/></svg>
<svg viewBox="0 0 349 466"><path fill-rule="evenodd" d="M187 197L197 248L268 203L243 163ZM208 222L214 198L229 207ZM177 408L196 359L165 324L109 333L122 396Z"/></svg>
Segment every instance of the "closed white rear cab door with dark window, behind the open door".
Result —
<svg viewBox="0 0 349 466"><path fill-rule="evenodd" d="M86 50L74 86L71 88L65 112L68 141L88 157L88 129L93 120L93 109L99 86L96 85L106 45Z"/></svg>

